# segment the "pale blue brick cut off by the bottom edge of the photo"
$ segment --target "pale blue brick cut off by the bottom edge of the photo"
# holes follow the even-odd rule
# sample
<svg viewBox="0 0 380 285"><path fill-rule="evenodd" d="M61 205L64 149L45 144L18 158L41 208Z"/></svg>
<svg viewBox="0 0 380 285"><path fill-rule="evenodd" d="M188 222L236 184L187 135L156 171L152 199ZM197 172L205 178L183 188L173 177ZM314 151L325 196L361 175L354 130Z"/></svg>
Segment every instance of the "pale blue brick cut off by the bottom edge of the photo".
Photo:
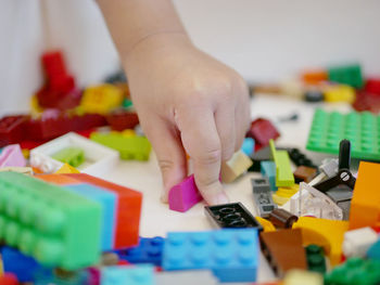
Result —
<svg viewBox="0 0 380 285"><path fill-rule="evenodd" d="M101 285L154 285L154 268L148 264L137 267L106 267L102 269Z"/></svg>

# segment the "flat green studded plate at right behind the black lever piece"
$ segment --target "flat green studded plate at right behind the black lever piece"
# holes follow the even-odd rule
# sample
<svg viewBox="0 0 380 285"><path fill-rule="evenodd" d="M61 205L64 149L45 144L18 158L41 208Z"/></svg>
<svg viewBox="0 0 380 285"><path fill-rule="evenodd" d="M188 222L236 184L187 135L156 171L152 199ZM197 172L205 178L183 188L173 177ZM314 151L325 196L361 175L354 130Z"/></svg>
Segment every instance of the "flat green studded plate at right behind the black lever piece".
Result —
<svg viewBox="0 0 380 285"><path fill-rule="evenodd" d="M371 113L340 114L317 109L308 133L306 148L339 154L340 141L351 141L351 156L380 160L380 117Z"/></svg>

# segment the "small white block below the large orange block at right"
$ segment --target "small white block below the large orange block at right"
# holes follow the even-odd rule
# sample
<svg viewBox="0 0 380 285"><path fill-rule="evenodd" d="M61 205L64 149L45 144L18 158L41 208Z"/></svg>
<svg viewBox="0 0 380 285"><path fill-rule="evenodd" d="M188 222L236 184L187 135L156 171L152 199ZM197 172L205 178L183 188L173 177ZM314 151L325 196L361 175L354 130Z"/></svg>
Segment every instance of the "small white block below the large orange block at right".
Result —
<svg viewBox="0 0 380 285"><path fill-rule="evenodd" d="M344 233L343 254L346 258L365 257L368 248L378 241L371 228L360 228Z"/></svg>

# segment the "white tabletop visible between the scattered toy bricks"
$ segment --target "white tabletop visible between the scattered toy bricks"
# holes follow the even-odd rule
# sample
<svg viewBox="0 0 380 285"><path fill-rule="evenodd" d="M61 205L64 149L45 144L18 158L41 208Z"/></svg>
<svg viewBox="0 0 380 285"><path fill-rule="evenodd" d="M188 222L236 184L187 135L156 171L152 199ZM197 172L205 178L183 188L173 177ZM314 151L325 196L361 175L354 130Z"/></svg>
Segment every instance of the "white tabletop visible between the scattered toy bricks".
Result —
<svg viewBox="0 0 380 285"><path fill-rule="evenodd" d="M278 146L295 146L305 152L315 163L319 164L326 154L305 151L308 130L314 109L339 109L347 112L347 104L312 104L280 95L255 95L252 99L252 118L265 117L276 124L281 137L277 140ZM296 113L299 119L290 122L278 122L279 117L288 117ZM253 213L253 197L251 178L259 173L246 173L237 181L226 184L225 190L231 203L241 202ZM203 207L199 203L186 213L172 211L168 205L160 202L162 179L156 164L155 154L152 153L148 163L119 161L118 166L104 172L102 178L123 184L143 193L142 213L140 221L141 236L166 236L170 231L202 231L213 229L208 223ZM261 255L258 281L275 280L265 258Z"/></svg>

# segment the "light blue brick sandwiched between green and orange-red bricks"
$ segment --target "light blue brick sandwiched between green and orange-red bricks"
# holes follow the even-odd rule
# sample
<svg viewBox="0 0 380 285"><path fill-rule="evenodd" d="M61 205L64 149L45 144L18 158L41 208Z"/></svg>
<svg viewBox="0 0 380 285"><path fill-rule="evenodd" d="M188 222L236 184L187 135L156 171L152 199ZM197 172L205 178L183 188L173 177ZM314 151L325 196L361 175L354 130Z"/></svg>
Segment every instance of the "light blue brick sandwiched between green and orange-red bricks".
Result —
<svg viewBox="0 0 380 285"><path fill-rule="evenodd" d="M112 250L115 241L117 195L111 191L90 184L67 185L66 189L102 206L101 249Z"/></svg>

